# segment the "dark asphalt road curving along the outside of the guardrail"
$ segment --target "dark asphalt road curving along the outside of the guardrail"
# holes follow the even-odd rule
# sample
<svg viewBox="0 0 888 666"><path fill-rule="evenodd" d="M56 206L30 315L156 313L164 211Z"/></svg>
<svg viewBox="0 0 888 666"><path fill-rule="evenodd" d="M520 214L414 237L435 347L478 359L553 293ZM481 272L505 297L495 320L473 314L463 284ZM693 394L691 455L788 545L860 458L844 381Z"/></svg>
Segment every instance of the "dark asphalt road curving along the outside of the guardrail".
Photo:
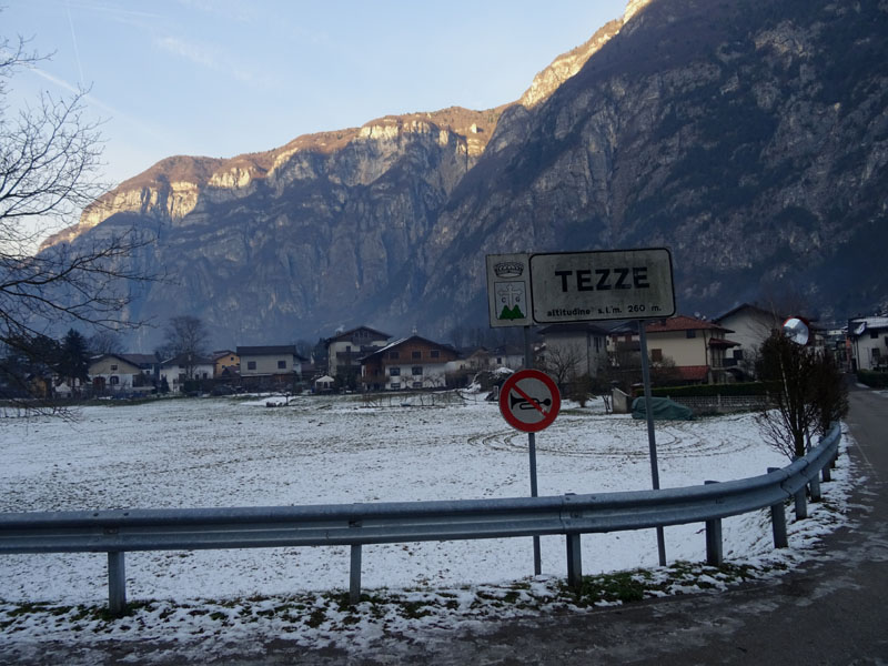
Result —
<svg viewBox="0 0 888 666"><path fill-rule="evenodd" d="M261 655L212 663L888 665L888 396L852 389L850 401L847 423L856 444L849 455L866 477L851 500L850 524L826 537L811 561L776 581L583 615L497 622L477 633L386 637L360 655L272 642ZM46 660L31 663L181 664L183 648L189 662L200 663L192 652L200 646L46 647Z"/></svg>

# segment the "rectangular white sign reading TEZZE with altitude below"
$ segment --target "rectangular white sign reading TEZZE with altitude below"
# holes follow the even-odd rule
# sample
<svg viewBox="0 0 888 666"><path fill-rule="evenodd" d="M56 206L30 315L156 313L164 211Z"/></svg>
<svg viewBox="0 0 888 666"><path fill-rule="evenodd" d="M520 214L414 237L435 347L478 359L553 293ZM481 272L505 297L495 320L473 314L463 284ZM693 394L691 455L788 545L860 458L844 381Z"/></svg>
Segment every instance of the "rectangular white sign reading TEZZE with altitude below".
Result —
<svg viewBox="0 0 888 666"><path fill-rule="evenodd" d="M531 300L538 324L675 314L666 248L531 255Z"/></svg>

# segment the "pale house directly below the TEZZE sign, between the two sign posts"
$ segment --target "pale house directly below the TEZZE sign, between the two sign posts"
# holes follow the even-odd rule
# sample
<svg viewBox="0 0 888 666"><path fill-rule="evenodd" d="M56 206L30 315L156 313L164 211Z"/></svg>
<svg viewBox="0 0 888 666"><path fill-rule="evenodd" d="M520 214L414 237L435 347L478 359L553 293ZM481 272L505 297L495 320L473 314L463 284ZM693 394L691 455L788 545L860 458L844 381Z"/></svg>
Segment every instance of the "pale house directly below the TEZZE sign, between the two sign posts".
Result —
<svg viewBox="0 0 888 666"><path fill-rule="evenodd" d="M537 334L545 344L545 351L537 361L556 382L583 375L594 377L608 365L608 332L595 324L552 324L542 327Z"/></svg>

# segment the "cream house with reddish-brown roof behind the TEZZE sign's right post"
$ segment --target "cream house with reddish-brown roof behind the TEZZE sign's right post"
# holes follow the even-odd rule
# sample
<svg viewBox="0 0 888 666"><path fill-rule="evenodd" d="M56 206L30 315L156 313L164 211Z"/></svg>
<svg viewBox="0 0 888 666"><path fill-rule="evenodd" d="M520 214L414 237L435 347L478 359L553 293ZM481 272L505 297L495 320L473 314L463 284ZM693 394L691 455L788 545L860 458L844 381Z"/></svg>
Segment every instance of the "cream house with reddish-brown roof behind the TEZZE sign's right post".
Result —
<svg viewBox="0 0 888 666"><path fill-rule="evenodd" d="M679 314L647 322L645 333L650 363L674 374L670 381L723 384L734 380L725 364L727 351L738 346L725 337L726 333L733 333L731 330ZM625 364L626 354L637 355L640 350L637 324L633 322L614 329L609 343L612 363L615 366Z"/></svg>

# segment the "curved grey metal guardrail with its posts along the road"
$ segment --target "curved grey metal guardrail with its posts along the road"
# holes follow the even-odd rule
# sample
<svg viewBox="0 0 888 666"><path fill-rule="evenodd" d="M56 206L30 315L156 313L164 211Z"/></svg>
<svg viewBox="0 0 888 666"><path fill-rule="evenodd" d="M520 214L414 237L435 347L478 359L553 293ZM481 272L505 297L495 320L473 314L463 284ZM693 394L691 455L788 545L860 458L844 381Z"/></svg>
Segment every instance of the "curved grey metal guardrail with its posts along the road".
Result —
<svg viewBox="0 0 888 666"><path fill-rule="evenodd" d="M722 563L722 518L770 508L775 547L786 547L784 503L807 517L820 498L841 432L767 474L700 486L504 500L390 502L191 509L109 509L0 514L0 554L107 553L109 608L127 606L124 554L135 551L351 546L350 598L361 593L364 544L565 535L567 578L582 577L581 535L706 523L706 562Z"/></svg>

